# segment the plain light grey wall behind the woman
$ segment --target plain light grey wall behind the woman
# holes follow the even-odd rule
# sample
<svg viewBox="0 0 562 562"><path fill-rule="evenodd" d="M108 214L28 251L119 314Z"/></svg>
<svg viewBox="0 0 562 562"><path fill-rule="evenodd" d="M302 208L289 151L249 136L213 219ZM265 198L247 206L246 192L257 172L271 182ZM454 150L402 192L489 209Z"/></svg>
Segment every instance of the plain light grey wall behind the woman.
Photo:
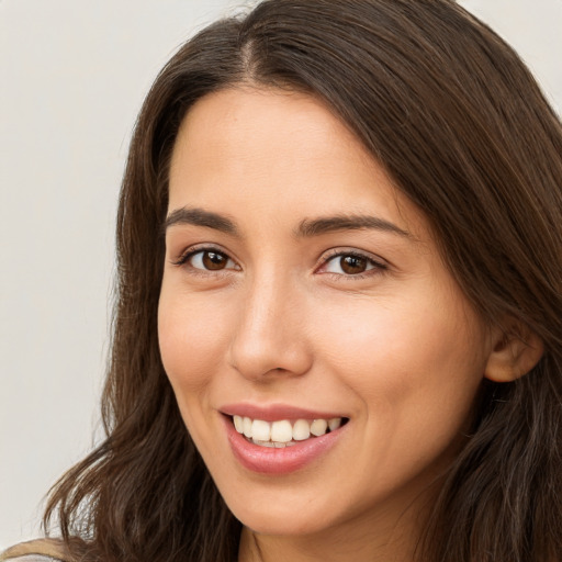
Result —
<svg viewBox="0 0 562 562"><path fill-rule="evenodd" d="M38 533L43 495L99 430L115 205L142 100L186 37L240 3L0 0L0 549ZM461 3L560 112L562 0Z"/></svg>

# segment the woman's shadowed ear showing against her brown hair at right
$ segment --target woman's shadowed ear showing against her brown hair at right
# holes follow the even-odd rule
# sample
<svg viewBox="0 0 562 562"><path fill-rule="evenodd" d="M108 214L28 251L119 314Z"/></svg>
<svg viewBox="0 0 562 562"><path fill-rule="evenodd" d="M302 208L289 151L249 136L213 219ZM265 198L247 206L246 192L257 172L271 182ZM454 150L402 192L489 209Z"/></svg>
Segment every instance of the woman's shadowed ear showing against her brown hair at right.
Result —
<svg viewBox="0 0 562 562"><path fill-rule="evenodd" d="M504 329L494 329L492 346L484 376L494 382L513 382L524 376L544 352L539 336L515 318L507 326L504 324Z"/></svg>

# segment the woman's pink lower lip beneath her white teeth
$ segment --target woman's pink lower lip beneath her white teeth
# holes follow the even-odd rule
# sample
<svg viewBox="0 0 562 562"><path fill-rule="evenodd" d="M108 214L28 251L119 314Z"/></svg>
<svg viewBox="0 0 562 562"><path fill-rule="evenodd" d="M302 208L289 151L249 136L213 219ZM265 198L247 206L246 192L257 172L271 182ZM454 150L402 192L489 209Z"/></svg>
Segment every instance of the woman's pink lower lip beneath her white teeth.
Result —
<svg viewBox="0 0 562 562"><path fill-rule="evenodd" d="M252 472L262 474L289 474L296 472L326 454L339 440L346 426L321 437L312 437L296 445L276 449L249 442L234 428L232 418L224 417L228 441L239 463Z"/></svg>

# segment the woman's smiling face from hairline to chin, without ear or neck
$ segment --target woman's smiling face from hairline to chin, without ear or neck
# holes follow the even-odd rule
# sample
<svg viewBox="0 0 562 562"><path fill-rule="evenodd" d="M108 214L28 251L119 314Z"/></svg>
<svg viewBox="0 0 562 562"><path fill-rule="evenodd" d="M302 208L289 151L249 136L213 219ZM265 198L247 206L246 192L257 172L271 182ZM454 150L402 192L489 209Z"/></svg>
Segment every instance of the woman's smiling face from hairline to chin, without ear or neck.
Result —
<svg viewBox="0 0 562 562"><path fill-rule="evenodd" d="M394 525L462 442L492 347L424 216L323 103L277 90L200 100L169 189L161 357L231 509L273 535Z"/></svg>

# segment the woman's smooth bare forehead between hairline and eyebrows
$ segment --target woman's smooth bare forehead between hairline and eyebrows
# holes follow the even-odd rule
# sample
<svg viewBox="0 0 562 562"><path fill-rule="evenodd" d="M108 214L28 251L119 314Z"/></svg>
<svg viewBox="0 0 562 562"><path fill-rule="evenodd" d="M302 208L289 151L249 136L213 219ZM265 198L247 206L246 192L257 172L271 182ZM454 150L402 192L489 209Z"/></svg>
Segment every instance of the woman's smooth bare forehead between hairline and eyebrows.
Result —
<svg viewBox="0 0 562 562"><path fill-rule="evenodd" d="M284 90L236 88L199 100L181 124L169 188L170 211L251 207L254 216L294 221L375 213L405 231L425 229L420 213L325 103Z"/></svg>

